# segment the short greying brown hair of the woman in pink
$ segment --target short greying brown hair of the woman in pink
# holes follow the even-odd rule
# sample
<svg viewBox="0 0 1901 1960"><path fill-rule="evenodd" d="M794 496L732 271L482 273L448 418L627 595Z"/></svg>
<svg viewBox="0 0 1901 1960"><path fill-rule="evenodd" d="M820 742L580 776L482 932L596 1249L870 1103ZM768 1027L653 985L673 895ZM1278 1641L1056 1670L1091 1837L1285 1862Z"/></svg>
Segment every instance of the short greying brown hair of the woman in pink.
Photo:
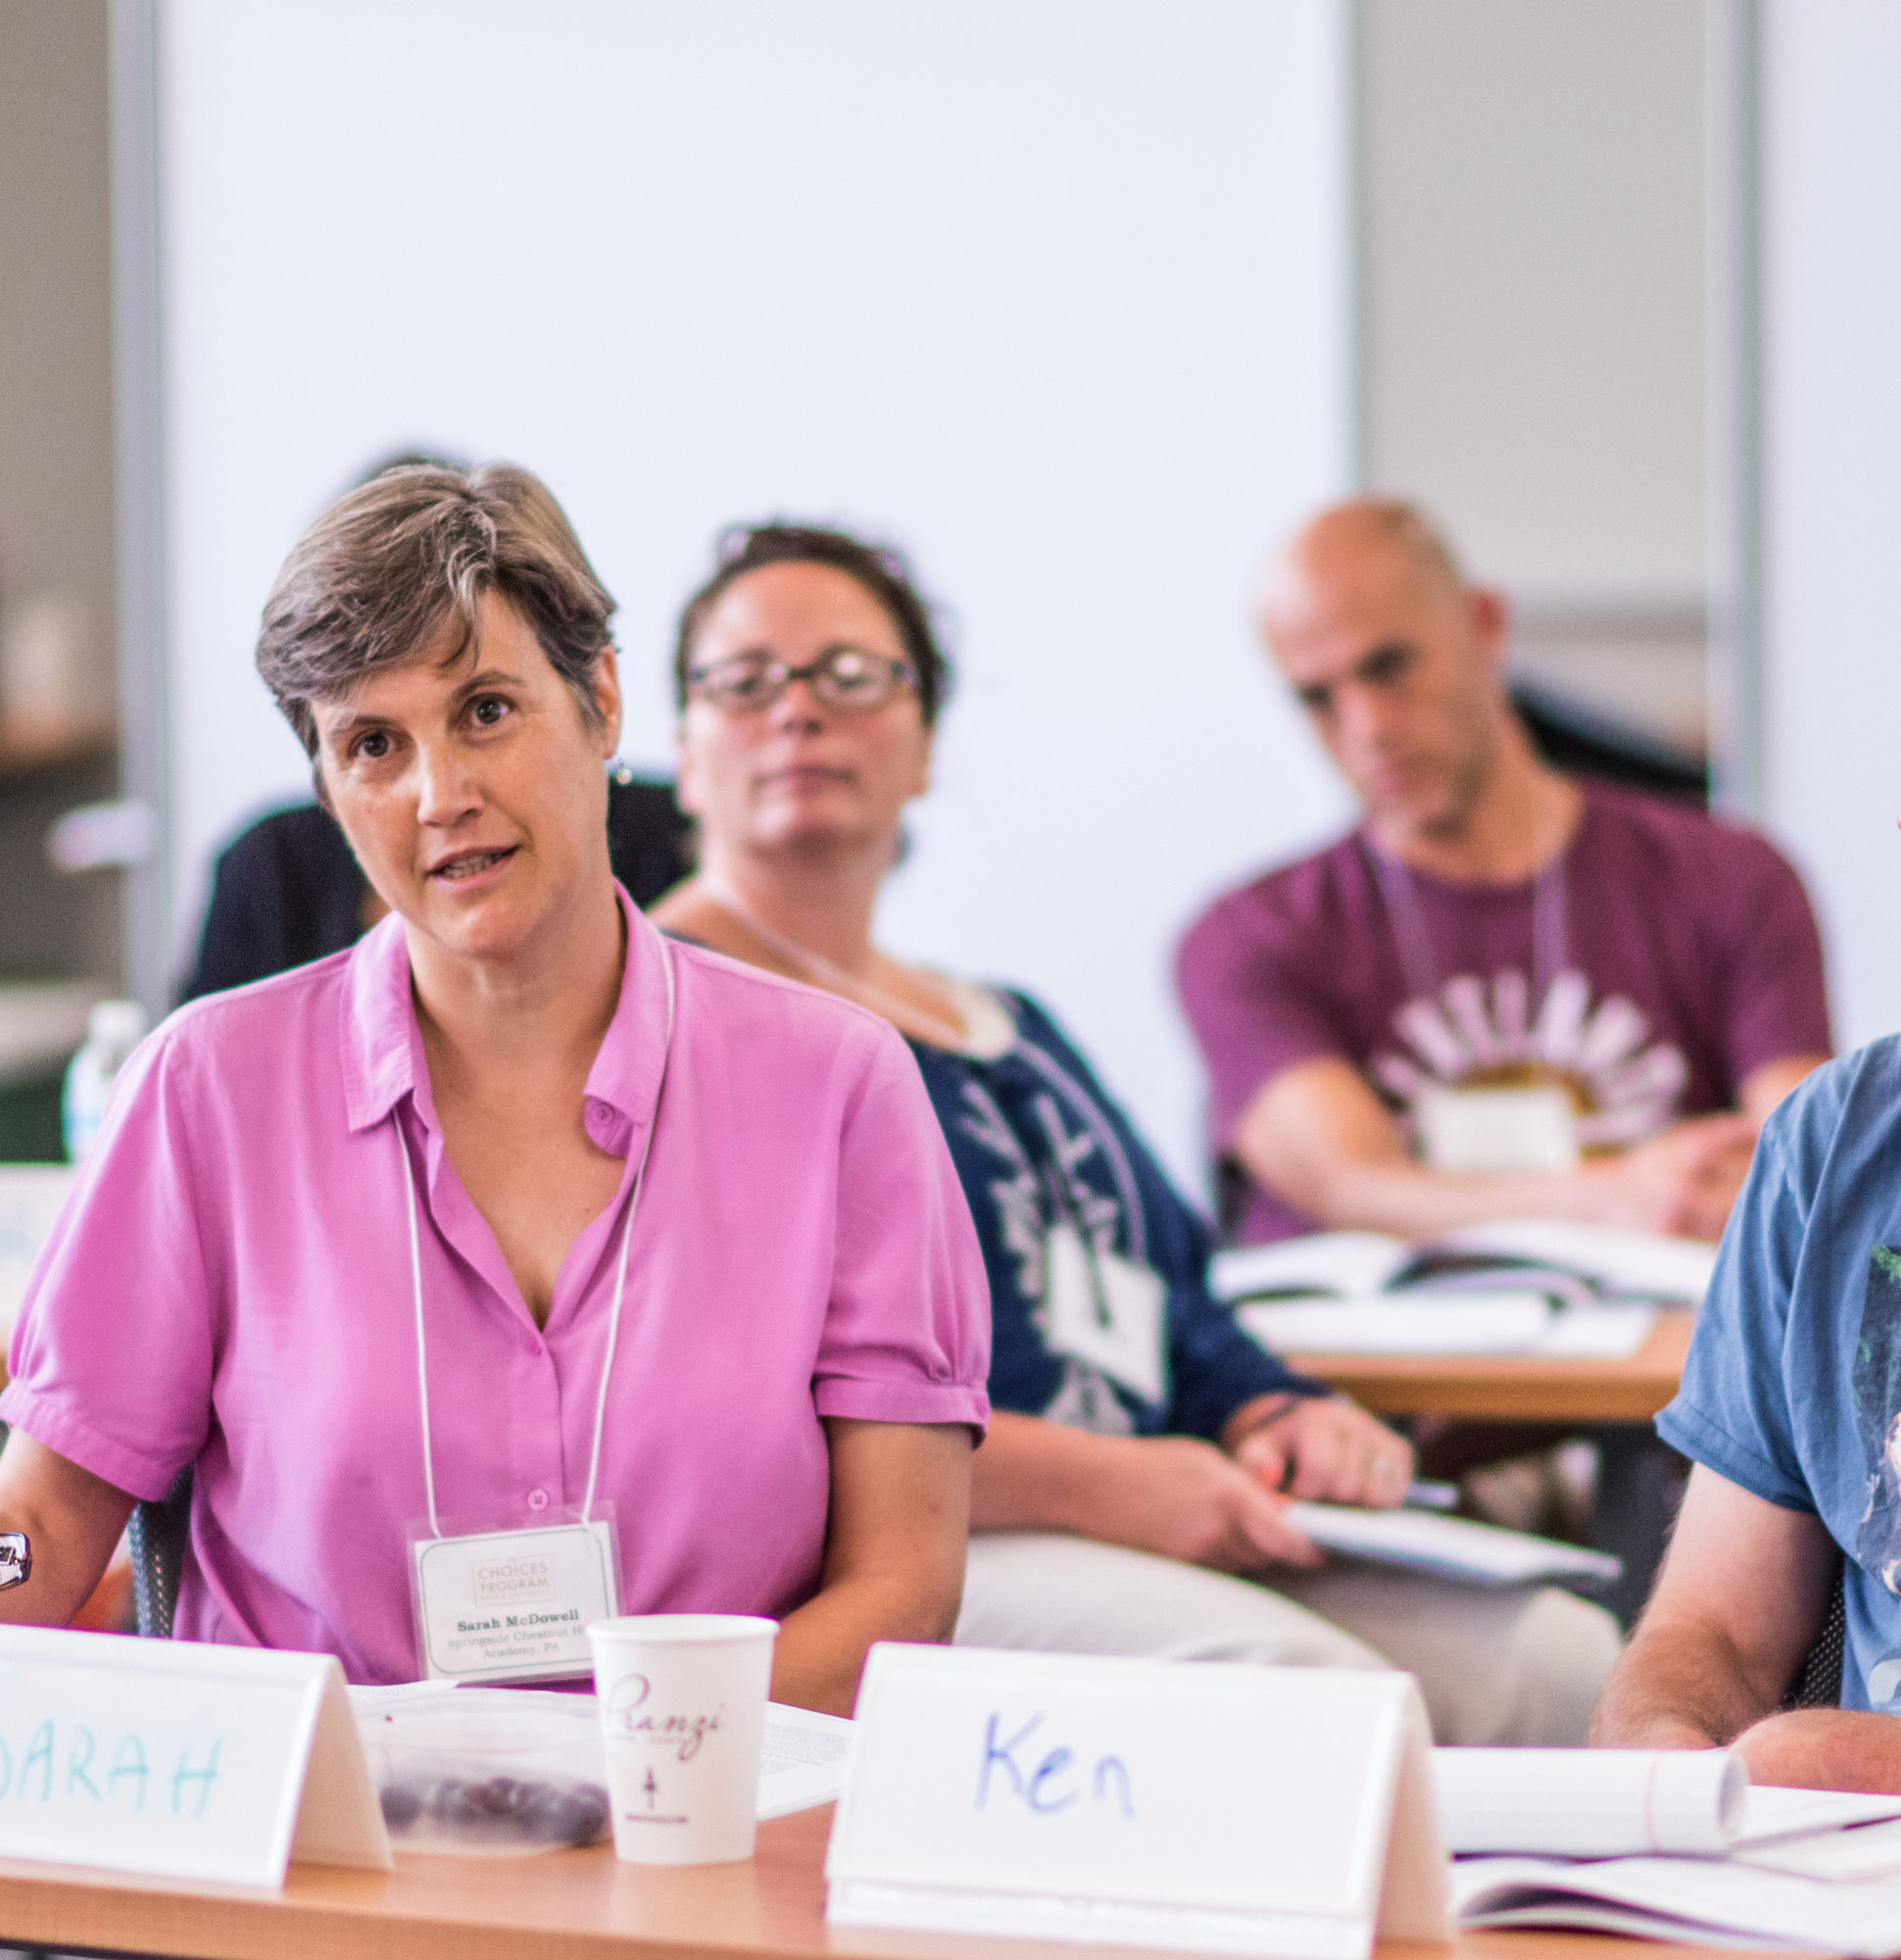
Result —
<svg viewBox="0 0 1901 1960"><path fill-rule="evenodd" d="M265 600L257 670L314 757L312 702L415 659L451 619L470 645L488 592L521 613L598 727L613 596L547 484L512 463L390 468L323 512Z"/></svg>

